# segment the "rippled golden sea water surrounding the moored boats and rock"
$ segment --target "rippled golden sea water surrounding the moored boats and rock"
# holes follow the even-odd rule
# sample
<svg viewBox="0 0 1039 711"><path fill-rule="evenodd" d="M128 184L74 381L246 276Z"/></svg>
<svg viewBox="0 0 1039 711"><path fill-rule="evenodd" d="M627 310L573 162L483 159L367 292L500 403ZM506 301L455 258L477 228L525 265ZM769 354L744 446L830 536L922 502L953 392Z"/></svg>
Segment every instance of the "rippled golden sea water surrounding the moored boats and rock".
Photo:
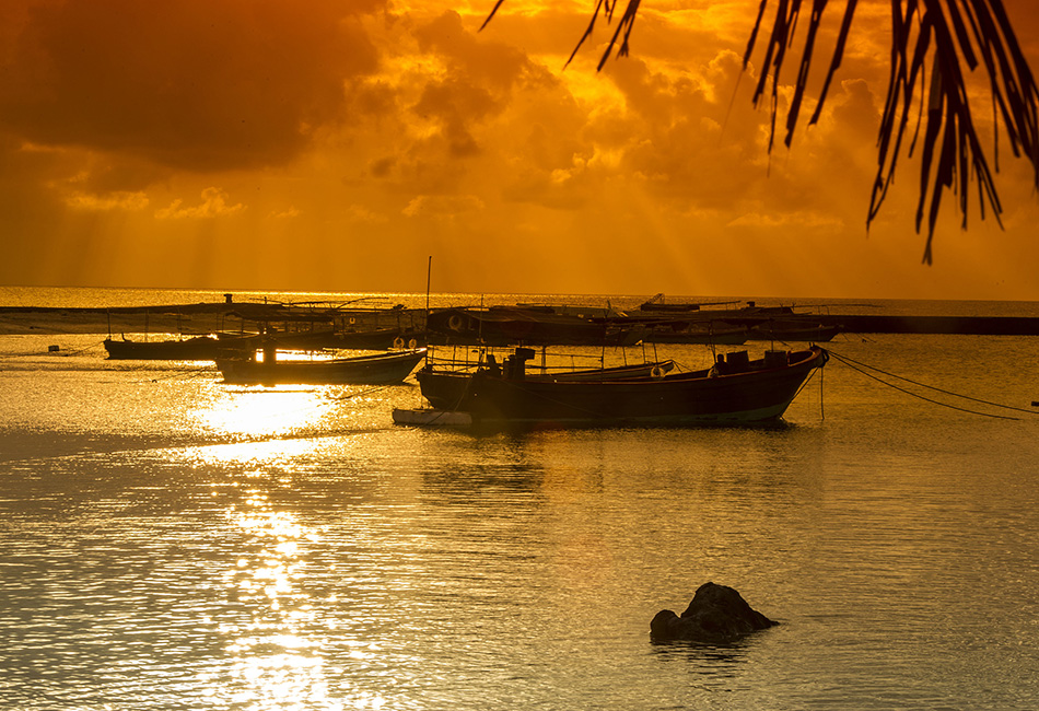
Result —
<svg viewBox="0 0 1039 711"><path fill-rule="evenodd" d="M0 288L0 306L223 299ZM107 361L104 337L0 336L0 709L1039 708L1039 338L842 334L779 427L476 434L395 426L411 378L230 386ZM707 582L780 623L652 642Z"/></svg>

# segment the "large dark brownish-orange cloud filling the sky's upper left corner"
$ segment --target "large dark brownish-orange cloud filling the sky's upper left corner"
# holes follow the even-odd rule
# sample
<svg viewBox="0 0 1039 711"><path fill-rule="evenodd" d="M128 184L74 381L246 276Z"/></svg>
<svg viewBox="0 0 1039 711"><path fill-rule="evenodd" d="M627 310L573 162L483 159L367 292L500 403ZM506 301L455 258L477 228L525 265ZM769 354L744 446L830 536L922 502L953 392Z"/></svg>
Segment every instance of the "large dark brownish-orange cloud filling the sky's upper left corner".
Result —
<svg viewBox="0 0 1039 711"><path fill-rule="evenodd" d="M3 129L215 171L284 163L341 118L345 80L377 66L358 14L384 0L20 4L0 55Z"/></svg>

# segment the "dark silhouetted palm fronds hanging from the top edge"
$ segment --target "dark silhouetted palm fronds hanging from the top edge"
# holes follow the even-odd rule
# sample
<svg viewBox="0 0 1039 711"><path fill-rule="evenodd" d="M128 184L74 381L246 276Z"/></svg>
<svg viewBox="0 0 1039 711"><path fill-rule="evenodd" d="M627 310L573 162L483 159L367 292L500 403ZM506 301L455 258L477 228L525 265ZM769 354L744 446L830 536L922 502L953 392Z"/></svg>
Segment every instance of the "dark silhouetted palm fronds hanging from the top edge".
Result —
<svg viewBox="0 0 1039 711"><path fill-rule="evenodd" d="M498 0L483 25L490 22L504 0ZM784 143L790 147L794 129L801 114L808 83L809 68L816 49L816 37L827 9L827 0L775 0L777 11L772 28L764 42L764 61L761 74L754 92L754 103L758 105L768 89L771 79L771 132L769 151L775 136L775 119L779 112L779 81L786 53L794 46L795 32L802 10L807 9L808 26L805 31L804 46L794 94L786 112L786 136ZM614 20L620 0L597 0L592 12L592 21L584 35L577 42L577 49L587 39L595 21L603 16L607 23ZM628 0L623 14L609 40L598 67L612 54L620 43L618 56L628 54L628 40L634 25L640 0ZM744 69L764 27L769 0L760 0L757 19L744 54ZM830 58L818 103L808 124L819 119L830 83L840 67L844 47L851 32L852 18L857 0L847 0L841 26L838 32L833 56ZM623 35L621 36L621 33ZM1007 20L1002 0L891 0L891 67L888 79L887 98L880 116L877 136L877 175L869 199L866 225L876 218L895 177L898 155L906 139L910 118L915 113L915 128L908 153L913 154L918 140L921 140L920 126L923 125L921 141L920 197L917 207L917 232L923 225L924 212L927 213L927 242L923 260L932 261L932 241L937 221L942 194L952 189L959 196L959 211L962 224L967 226L968 188L971 179L978 180L978 198L981 218L984 219L988 203L995 219L1002 225L1003 212L999 194L992 179L992 172L984 151L978 139L967 98L967 81L964 66L973 71L984 65L992 92L992 105L995 130L1002 121L1009 138L1015 156L1026 156L1035 172L1035 185L1039 188L1039 91L1036 89L1031 70L1020 50L1014 30ZM927 96L924 97L926 66L930 65L931 78ZM914 96L919 90L919 106L913 110ZM997 132L993 140L993 158L999 171Z"/></svg>

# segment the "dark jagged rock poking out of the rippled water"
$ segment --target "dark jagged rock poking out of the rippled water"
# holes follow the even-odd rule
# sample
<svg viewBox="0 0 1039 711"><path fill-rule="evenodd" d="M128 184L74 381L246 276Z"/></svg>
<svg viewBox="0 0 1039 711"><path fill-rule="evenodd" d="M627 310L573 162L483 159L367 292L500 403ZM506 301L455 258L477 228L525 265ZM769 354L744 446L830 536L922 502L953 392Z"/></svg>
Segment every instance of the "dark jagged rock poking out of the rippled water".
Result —
<svg viewBox="0 0 1039 711"><path fill-rule="evenodd" d="M748 632L773 625L732 587L704 583L697 590L681 617L662 609L650 622L650 639L654 642L676 640L724 644Z"/></svg>

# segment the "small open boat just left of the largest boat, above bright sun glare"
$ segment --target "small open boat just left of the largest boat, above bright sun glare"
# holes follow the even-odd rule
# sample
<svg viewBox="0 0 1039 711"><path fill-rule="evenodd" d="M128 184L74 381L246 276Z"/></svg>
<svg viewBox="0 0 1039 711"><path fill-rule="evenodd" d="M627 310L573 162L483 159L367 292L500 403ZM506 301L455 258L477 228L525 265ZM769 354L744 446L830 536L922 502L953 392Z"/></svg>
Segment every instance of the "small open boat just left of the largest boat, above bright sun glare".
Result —
<svg viewBox="0 0 1039 711"><path fill-rule="evenodd" d="M400 383L425 357L424 348L353 358L278 360L265 351L264 360L219 359L224 382L236 385L390 385Z"/></svg>

